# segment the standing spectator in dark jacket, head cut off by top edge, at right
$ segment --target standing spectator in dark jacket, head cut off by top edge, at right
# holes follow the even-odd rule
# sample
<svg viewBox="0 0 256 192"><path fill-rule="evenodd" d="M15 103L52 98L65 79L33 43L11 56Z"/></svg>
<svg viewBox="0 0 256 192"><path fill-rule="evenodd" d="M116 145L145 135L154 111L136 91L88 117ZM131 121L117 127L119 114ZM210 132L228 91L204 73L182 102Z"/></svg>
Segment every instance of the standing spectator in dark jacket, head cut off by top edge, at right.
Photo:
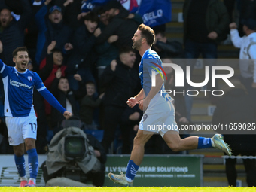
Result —
<svg viewBox="0 0 256 192"><path fill-rule="evenodd" d="M209 66L209 82L207 89L212 90L212 66L217 59L218 43L227 38L230 23L227 8L220 0L186 0L183 7L184 16L184 51L187 66L193 73L197 59L202 53L204 65ZM186 82L187 83L187 82ZM218 85L216 85L218 87ZM185 89L190 89L188 85ZM212 104L216 98L211 96ZM185 95L187 106L187 119L193 105L193 96Z"/></svg>

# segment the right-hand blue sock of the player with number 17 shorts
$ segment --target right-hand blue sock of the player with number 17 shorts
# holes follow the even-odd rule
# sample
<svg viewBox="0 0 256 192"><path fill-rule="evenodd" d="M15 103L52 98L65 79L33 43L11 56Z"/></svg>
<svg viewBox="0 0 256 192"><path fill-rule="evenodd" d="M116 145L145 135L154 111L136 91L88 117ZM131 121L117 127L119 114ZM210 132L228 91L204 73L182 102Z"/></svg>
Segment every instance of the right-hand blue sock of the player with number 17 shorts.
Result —
<svg viewBox="0 0 256 192"><path fill-rule="evenodd" d="M30 178L36 178L38 175L38 153L35 148L26 151L29 156L29 174Z"/></svg>

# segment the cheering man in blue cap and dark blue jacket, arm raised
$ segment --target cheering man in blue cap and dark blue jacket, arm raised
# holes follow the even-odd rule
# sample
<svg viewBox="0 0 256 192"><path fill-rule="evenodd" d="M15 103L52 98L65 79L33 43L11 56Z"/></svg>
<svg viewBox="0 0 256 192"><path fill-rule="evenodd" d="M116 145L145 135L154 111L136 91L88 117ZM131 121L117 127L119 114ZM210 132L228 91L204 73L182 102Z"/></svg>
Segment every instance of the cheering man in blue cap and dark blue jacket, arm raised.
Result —
<svg viewBox="0 0 256 192"><path fill-rule="evenodd" d="M66 0L69 2L70 0ZM35 14L35 21L38 24L38 41L35 54L35 62L40 65L47 55L47 46L51 41L56 41L56 48L64 51L64 47L69 43L72 29L66 26L62 20L62 9L59 6L52 6L49 10L48 19L44 19L48 11L51 0L46 0L44 6ZM64 51L65 52L65 51Z"/></svg>

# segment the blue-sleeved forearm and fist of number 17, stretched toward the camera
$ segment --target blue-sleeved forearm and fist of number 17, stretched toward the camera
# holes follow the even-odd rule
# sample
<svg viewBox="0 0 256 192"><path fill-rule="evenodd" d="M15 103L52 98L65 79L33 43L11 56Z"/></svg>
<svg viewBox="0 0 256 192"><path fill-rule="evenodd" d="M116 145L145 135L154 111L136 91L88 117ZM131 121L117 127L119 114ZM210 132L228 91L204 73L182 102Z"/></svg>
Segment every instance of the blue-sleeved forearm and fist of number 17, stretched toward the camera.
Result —
<svg viewBox="0 0 256 192"><path fill-rule="evenodd" d="M49 102L50 105L53 106L53 108L56 108L59 112L61 112L66 119L69 119L69 117L72 116L72 113L66 111L66 109L63 108L62 105L60 105L58 100L53 96L52 93L50 93L49 90L47 90L47 88L44 88L43 90L38 90L38 92L41 94L41 96L44 97L44 99L47 100L47 102Z"/></svg>

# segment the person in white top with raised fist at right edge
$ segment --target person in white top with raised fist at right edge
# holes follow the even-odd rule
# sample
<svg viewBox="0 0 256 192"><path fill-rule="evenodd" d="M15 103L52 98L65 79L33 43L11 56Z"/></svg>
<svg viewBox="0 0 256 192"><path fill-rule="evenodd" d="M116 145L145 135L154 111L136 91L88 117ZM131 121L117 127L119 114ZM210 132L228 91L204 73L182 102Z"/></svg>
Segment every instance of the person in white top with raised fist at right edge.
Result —
<svg viewBox="0 0 256 192"><path fill-rule="evenodd" d="M240 48L240 81L256 103L256 20L250 18L243 20L242 24L245 35L239 36L236 23L233 22L230 23L230 36L233 45Z"/></svg>

